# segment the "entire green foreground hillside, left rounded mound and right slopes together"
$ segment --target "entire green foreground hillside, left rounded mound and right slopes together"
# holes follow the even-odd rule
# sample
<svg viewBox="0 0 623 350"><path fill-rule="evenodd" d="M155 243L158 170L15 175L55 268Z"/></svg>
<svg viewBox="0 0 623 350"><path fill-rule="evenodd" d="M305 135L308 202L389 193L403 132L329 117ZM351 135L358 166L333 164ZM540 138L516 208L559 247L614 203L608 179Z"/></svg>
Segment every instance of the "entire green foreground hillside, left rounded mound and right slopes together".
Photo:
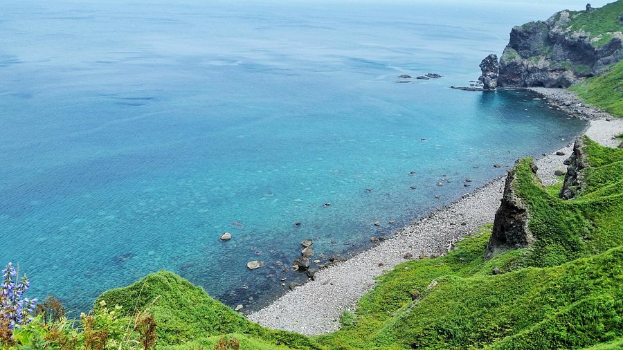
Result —
<svg viewBox="0 0 623 350"><path fill-rule="evenodd" d="M408 261L379 278L341 331L272 331L172 273L104 293L128 315L149 308L157 349L620 349L623 344L623 149L585 139L575 199L543 188L532 160L512 185L536 242L483 258L491 226L445 257ZM498 274L493 270L499 269ZM224 337L224 338L222 338Z"/></svg>

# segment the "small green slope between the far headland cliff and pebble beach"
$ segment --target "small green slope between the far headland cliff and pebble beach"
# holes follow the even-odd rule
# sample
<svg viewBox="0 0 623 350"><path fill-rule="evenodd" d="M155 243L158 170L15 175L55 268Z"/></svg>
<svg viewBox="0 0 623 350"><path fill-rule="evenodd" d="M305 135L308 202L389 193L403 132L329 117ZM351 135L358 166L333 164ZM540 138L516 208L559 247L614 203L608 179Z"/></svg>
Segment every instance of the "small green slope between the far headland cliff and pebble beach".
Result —
<svg viewBox="0 0 623 350"><path fill-rule="evenodd" d="M623 61L602 75L571 86L570 90L613 116L623 117Z"/></svg>

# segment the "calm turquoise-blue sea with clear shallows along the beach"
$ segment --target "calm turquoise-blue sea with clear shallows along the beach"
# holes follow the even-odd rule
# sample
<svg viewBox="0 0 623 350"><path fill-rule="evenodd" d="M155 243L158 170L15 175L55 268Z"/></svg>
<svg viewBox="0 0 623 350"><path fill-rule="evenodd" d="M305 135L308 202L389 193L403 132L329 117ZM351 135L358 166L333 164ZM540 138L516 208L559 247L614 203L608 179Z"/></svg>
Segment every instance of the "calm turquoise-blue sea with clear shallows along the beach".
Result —
<svg viewBox="0 0 623 350"><path fill-rule="evenodd" d="M0 261L75 311L160 269L261 306L303 279L275 263L306 237L347 256L585 127L448 87L568 6L530 4L6 4Z"/></svg>

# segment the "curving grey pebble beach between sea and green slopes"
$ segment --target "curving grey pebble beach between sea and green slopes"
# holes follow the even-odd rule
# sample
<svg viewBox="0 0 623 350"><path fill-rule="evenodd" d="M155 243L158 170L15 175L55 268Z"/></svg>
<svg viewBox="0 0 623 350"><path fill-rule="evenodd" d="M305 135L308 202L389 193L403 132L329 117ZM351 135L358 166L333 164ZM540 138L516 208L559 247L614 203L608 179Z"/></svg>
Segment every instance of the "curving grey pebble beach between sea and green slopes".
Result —
<svg viewBox="0 0 623 350"><path fill-rule="evenodd" d="M616 147L614 135L623 133L623 118L581 102L575 93L563 89L529 89L548 101L552 109L561 109L570 116L589 121L584 134L602 145ZM565 155L557 156L557 152ZM557 182L554 171L564 168L563 161L572 152L572 145L535 160L544 185ZM339 264L319 270L314 280L278 297L259 311L246 315L249 320L272 329L284 329L306 335L329 333L339 329L345 310L374 286L374 278L397 264L413 258L444 254L453 242L491 223L498 209L505 176L496 178L442 210L398 230L394 236Z"/></svg>

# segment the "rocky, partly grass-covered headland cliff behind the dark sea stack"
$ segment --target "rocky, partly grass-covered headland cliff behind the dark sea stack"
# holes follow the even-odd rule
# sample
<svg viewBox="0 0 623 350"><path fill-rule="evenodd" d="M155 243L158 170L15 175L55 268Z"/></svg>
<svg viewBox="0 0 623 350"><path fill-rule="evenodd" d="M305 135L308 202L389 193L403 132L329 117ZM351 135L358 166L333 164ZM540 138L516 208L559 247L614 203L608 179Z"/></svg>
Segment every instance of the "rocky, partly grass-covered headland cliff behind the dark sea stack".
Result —
<svg viewBox="0 0 623 350"><path fill-rule="evenodd" d="M586 11L564 10L516 26L502 57L500 87L568 87L623 59L623 0Z"/></svg>

